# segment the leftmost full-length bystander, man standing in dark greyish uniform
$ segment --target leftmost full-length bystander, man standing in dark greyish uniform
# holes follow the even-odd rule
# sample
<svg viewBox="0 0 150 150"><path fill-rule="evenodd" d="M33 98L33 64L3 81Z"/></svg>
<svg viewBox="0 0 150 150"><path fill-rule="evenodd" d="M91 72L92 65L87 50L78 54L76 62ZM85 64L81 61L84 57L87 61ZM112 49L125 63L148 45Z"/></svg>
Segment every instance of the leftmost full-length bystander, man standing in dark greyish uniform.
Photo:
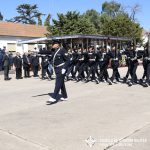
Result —
<svg viewBox="0 0 150 150"><path fill-rule="evenodd" d="M6 52L3 56L2 63L4 66L4 80L10 80L9 78L9 67L10 67L10 60L9 60L9 52Z"/></svg>

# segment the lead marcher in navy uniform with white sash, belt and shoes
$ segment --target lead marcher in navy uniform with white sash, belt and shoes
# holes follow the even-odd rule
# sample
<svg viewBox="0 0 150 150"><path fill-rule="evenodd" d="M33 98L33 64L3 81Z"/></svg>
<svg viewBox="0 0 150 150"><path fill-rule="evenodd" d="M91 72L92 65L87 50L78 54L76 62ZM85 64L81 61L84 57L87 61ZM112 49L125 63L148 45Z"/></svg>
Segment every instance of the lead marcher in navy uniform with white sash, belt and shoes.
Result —
<svg viewBox="0 0 150 150"><path fill-rule="evenodd" d="M54 94L49 99L49 103L57 102L57 96L59 91L61 90L61 100L67 100L67 92L64 83L65 73L69 64L68 53L66 49L60 47L59 41L53 41L52 49L54 49L53 53L53 67L56 74L56 81L55 81L55 89Z"/></svg>

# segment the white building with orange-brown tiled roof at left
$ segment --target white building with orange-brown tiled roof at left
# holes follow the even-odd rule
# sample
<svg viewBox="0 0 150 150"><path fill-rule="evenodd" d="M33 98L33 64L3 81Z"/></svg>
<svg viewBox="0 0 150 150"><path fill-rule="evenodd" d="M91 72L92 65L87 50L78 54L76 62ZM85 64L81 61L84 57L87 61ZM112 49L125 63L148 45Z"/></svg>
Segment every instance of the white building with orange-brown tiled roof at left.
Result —
<svg viewBox="0 0 150 150"><path fill-rule="evenodd" d="M20 44L19 41L32 40L45 37L46 27L39 25L20 24L12 22L0 22L0 48L6 47L11 52L38 51L45 44Z"/></svg>

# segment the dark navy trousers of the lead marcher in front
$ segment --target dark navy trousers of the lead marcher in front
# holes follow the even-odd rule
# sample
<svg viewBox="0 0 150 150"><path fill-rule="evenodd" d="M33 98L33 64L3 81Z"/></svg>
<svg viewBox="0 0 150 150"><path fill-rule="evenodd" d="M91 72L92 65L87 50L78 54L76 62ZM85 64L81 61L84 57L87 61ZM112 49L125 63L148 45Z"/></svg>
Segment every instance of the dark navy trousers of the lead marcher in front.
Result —
<svg viewBox="0 0 150 150"><path fill-rule="evenodd" d="M54 95L53 98L56 99L60 90L63 98L67 98L67 92L64 82L65 75L61 74L61 70L59 72L56 72L56 82L55 82L55 89L54 89Z"/></svg>

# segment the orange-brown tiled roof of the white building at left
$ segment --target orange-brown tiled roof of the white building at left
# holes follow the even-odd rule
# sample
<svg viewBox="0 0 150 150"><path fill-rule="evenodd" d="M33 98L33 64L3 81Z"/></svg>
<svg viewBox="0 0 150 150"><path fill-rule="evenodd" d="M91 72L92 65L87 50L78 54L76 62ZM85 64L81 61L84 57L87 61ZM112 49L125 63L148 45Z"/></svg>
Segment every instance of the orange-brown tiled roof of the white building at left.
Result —
<svg viewBox="0 0 150 150"><path fill-rule="evenodd" d="M45 37L47 33L45 26L0 22L0 36L17 37Z"/></svg>

